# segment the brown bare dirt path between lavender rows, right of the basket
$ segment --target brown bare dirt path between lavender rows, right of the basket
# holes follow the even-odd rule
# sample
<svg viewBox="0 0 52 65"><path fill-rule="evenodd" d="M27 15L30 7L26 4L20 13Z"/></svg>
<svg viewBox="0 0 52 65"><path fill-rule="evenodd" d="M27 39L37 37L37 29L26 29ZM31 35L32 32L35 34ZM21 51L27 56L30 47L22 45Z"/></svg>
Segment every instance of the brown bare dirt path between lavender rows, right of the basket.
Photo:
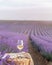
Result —
<svg viewBox="0 0 52 65"><path fill-rule="evenodd" d="M30 40L29 40L29 53L31 54L33 58L34 65L47 65L48 64L47 61L41 56L41 54L33 48Z"/></svg>

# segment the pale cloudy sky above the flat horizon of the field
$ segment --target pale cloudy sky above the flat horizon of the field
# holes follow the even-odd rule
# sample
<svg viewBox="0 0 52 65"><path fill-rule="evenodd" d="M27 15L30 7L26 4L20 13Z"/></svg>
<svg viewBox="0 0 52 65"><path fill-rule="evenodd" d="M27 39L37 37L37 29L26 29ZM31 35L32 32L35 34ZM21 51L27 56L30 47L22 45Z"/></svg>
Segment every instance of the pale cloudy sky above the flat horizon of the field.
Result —
<svg viewBox="0 0 52 65"><path fill-rule="evenodd" d="M0 20L52 20L52 0L0 0Z"/></svg>

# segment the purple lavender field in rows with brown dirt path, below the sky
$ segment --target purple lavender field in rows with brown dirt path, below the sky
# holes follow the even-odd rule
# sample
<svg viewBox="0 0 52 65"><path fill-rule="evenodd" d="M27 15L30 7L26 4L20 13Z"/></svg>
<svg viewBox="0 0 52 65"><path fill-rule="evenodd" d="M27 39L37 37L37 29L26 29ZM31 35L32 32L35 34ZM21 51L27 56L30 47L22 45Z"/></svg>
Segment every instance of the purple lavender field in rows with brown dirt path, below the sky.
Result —
<svg viewBox="0 0 52 65"><path fill-rule="evenodd" d="M1 21L1 54L19 52L16 48L18 39L24 40L23 51L32 55L35 65L46 65L46 62L52 61L52 23ZM2 65L2 62L0 65Z"/></svg>

